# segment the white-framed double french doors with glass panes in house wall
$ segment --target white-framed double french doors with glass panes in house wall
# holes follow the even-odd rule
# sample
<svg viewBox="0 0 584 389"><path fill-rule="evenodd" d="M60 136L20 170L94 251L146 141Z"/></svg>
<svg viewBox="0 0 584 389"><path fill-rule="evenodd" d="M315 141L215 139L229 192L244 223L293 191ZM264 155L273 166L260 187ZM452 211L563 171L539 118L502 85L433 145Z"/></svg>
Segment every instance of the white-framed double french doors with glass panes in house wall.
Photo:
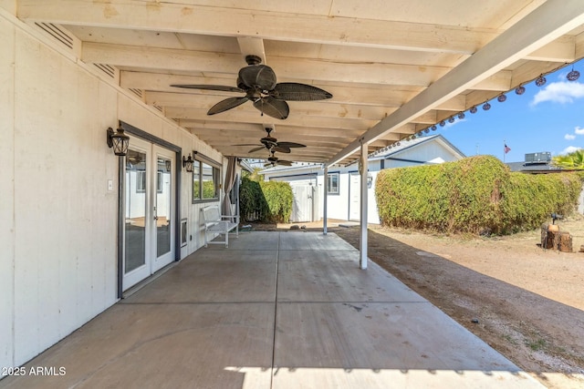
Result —
<svg viewBox="0 0 584 389"><path fill-rule="evenodd" d="M169 149L130 138L123 189L124 291L174 260L174 159Z"/></svg>

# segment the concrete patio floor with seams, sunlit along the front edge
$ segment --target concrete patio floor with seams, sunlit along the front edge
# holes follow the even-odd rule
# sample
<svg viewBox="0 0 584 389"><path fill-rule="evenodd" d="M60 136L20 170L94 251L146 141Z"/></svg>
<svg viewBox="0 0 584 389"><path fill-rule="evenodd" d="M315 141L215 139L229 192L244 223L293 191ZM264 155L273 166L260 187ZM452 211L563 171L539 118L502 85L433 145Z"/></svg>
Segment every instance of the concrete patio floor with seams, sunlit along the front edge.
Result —
<svg viewBox="0 0 584 389"><path fill-rule="evenodd" d="M0 388L541 388L333 233L196 251Z"/></svg>

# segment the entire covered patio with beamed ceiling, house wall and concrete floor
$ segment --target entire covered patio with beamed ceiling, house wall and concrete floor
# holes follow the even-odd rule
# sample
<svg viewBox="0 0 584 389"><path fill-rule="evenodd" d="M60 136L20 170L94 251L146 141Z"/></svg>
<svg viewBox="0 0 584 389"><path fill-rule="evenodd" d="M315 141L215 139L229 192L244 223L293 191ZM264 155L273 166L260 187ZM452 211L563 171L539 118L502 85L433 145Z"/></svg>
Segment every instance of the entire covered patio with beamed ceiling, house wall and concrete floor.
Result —
<svg viewBox="0 0 584 389"><path fill-rule="evenodd" d="M362 271L367 161L584 57L581 0L0 0L0 36L0 365L44 374L0 387L537 386ZM273 82L240 82L264 66ZM332 96L283 98L276 75ZM358 165L360 251L326 233L326 196L324 234L202 249L247 158Z"/></svg>

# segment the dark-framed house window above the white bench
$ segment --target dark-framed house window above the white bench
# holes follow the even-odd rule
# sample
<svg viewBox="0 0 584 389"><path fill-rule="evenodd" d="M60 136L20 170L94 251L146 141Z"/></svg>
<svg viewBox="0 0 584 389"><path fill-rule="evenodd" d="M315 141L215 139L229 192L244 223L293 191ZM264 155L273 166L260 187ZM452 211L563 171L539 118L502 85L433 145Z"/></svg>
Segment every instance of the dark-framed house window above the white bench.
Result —
<svg viewBox="0 0 584 389"><path fill-rule="evenodd" d="M219 200L221 165L194 152L193 201Z"/></svg>

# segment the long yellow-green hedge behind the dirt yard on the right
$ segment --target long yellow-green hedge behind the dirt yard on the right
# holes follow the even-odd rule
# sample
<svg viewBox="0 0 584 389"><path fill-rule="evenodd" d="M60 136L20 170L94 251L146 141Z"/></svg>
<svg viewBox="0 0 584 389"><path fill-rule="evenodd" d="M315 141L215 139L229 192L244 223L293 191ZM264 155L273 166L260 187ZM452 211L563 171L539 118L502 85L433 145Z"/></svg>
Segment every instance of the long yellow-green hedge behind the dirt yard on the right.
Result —
<svg viewBox="0 0 584 389"><path fill-rule="evenodd" d="M375 189L381 224L442 232L532 230L551 212L574 210L581 179L571 173L511 173L481 156L440 165L386 169Z"/></svg>

